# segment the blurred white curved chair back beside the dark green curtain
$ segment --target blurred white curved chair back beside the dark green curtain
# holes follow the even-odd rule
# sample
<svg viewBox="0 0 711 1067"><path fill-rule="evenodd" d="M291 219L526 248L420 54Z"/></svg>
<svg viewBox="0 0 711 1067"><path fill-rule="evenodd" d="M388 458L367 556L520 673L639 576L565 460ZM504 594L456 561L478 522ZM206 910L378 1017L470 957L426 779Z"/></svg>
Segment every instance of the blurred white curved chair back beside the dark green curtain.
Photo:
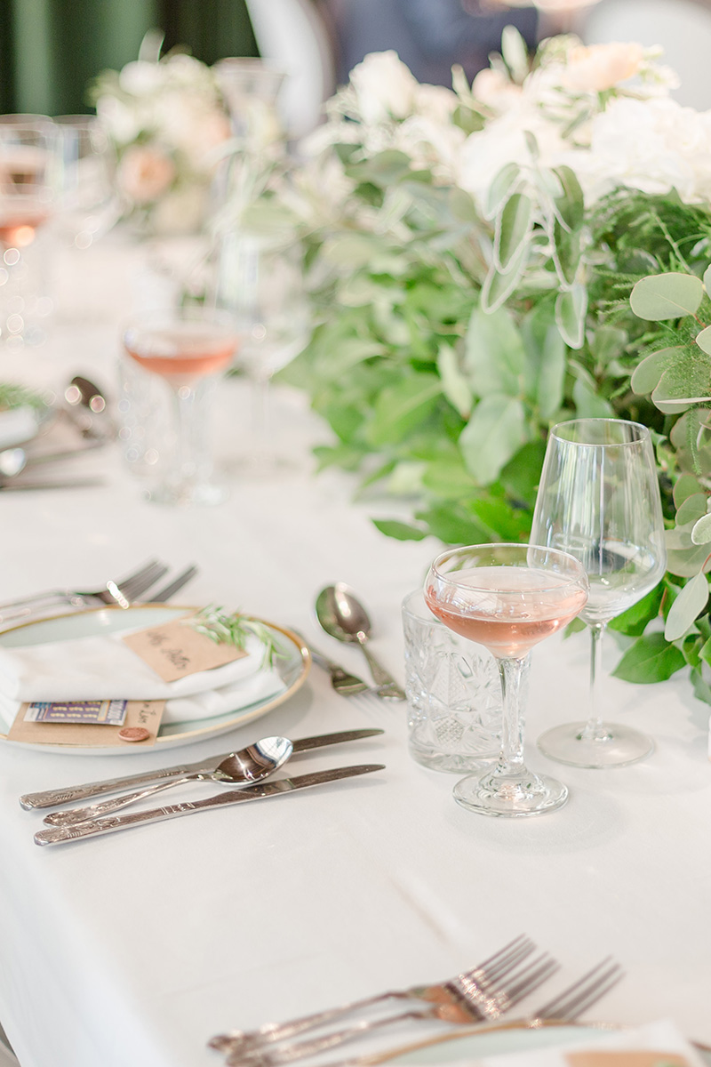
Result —
<svg viewBox="0 0 711 1067"><path fill-rule="evenodd" d="M326 26L312 0L246 0L246 5L261 57L287 74L279 94L287 133L303 137L318 125L336 87Z"/></svg>

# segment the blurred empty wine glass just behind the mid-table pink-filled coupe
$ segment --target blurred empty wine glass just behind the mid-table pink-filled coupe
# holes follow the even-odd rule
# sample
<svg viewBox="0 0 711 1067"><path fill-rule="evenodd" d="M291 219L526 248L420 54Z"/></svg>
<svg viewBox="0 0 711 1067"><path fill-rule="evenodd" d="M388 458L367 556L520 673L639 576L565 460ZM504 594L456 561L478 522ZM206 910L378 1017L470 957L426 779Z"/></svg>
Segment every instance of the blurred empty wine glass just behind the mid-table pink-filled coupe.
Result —
<svg viewBox="0 0 711 1067"><path fill-rule="evenodd" d="M298 355L309 335L300 245L284 236L226 234L215 303L235 318L240 338L238 366L255 385L253 466L265 472L279 465L278 457L270 451L271 381Z"/></svg>

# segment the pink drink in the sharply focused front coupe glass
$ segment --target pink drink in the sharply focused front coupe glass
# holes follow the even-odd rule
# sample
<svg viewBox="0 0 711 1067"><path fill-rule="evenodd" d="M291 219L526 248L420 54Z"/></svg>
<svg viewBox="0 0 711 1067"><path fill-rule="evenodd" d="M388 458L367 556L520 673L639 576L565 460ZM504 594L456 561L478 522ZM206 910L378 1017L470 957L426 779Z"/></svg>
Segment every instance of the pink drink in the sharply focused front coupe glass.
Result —
<svg viewBox="0 0 711 1067"><path fill-rule="evenodd" d="M587 600L569 578L527 567L474 567L452 578L457 585L442 592L425 589L430 610L498 658L520 659L575 619Z"/></svg>

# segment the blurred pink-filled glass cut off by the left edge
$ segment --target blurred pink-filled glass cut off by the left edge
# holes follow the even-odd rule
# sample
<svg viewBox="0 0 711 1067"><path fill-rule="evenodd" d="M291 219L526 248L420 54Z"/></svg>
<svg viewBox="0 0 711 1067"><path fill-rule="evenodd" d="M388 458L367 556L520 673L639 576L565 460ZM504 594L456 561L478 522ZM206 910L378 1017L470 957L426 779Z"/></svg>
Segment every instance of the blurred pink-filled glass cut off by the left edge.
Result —
<svg viewBox="0 0 711 1067"><path fill-rule="evenodd" d="M56 130L29 117L0 121L0 339L13 346L43 340L52 309L38 237L56 204Z"/></svg>

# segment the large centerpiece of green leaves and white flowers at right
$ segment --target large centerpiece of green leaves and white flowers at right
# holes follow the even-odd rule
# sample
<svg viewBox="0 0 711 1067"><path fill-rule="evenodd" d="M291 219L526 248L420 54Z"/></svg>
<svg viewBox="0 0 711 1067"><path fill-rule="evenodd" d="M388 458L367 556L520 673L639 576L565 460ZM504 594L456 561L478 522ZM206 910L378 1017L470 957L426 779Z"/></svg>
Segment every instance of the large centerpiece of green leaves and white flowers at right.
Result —
<svg viewBox="0 0 711 1067"><path fill-rule="evenodd" d="M651 428L668 573L613 621L616 673L689 665L711 702L711 113L675 83L571 36L530 61L506 31L451 91L373 54L260 211L298 228L319 318L286 377L333 428L322 464L410 501L385 534L526 540L552 423Z"/></svg>

